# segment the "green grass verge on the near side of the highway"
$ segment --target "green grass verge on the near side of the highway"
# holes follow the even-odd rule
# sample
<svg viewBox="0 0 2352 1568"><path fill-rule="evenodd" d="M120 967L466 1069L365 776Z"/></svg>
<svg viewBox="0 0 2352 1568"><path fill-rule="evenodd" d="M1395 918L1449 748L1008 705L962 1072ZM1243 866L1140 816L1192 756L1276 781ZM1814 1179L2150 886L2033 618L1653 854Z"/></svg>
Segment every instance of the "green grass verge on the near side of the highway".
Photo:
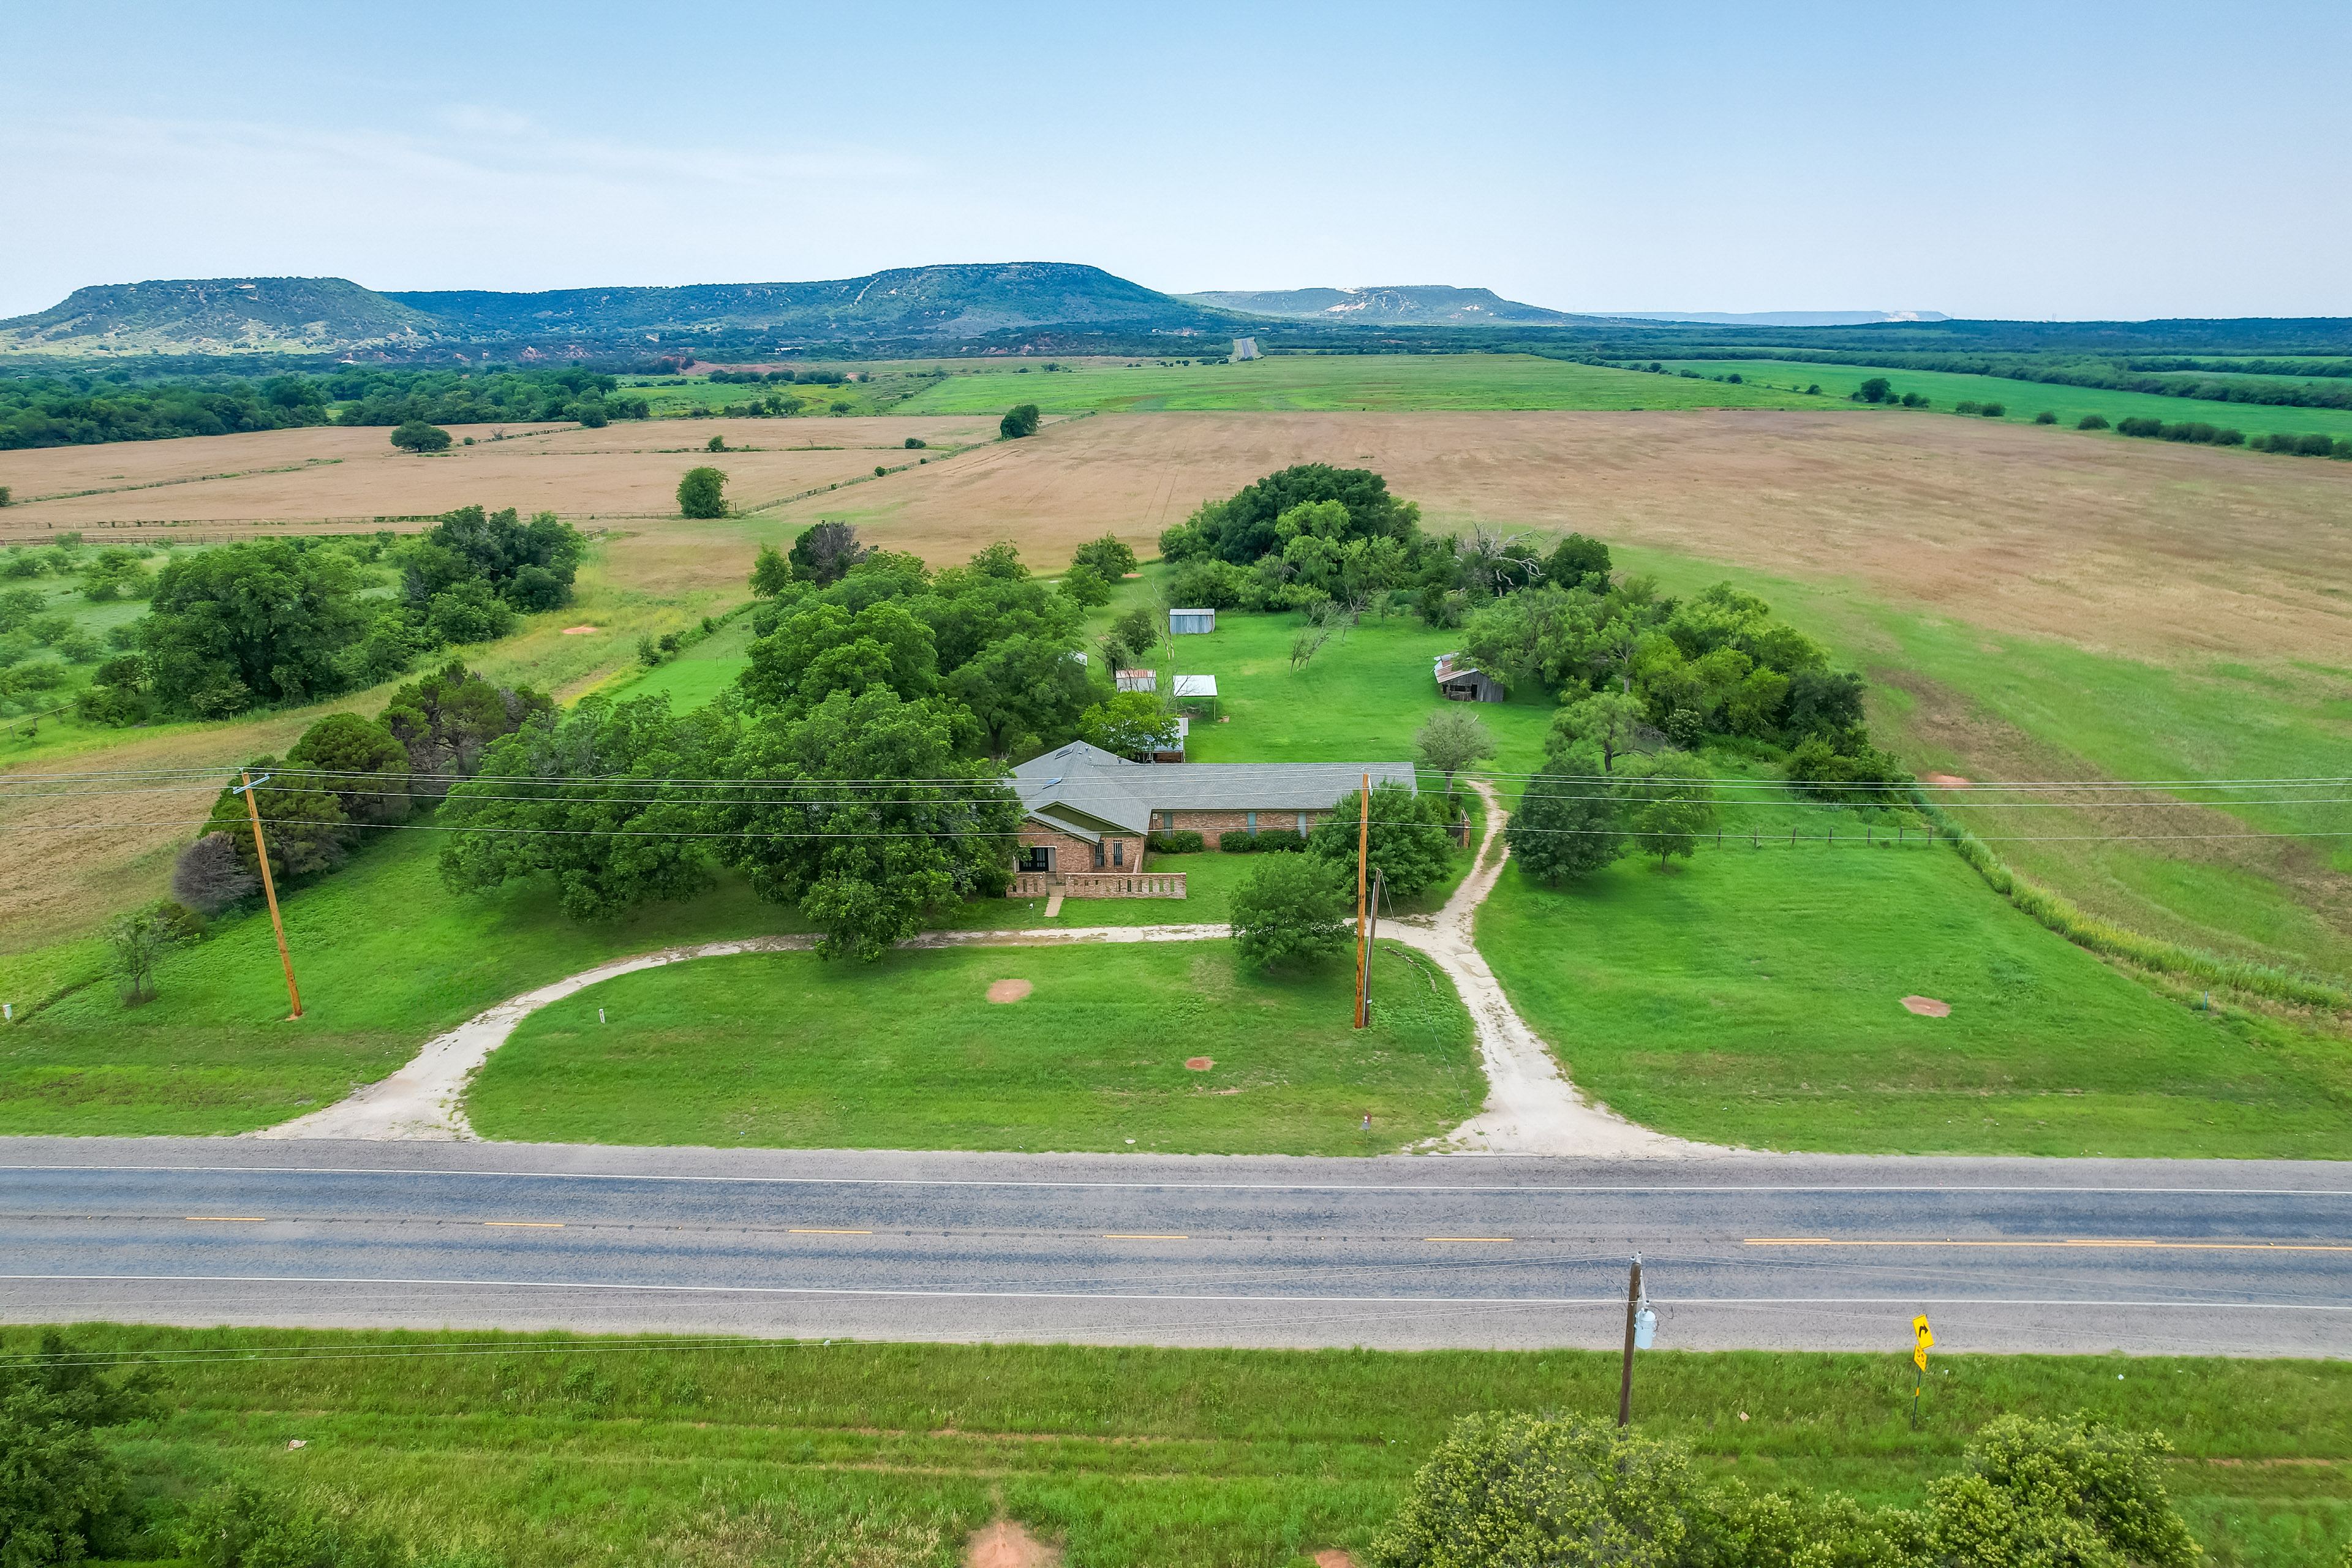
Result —
<svg viewBox="0 0 2352 1568"><path fill-rule="evenodd" d="M165 1366L169 1413L113 1436L162 1514L242 1479L416 1552L515 1568L953 1568L995 1516L1058 1540L1070 1568L1305 1568L1312 1552L1364 1552L1456 1415L1616 1408L1616 1356L1557 1349L75 1338L240 1354ZM31 1342L14 1331L7 1349ZM296 1345L318 1359L292 1359ZM2343 1361L1955 1354L1936 1368L1917 1434L1900 1354L1649 1352L1635 1413L1691 1441L1710 1476L1917 1507L1985 1420L2093 1410L2171 1436L2166 1486L2213 1568L2333 1563L2352 1533Z"/></svg>

